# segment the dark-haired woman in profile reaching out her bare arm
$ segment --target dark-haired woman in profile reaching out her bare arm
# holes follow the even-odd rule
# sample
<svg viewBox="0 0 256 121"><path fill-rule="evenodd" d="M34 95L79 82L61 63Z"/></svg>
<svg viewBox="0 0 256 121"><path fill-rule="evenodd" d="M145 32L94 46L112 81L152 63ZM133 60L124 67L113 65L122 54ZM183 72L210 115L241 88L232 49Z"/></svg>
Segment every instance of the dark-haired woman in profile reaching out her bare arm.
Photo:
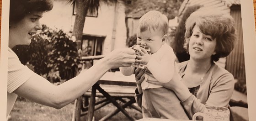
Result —
<svg viewBox="0 0 256 121"><path fill-rule="evenodd" d="M132 49L117 49L100 59L87 71L55 86L24 66L11 50L28 45L37 30L42 29L43 12L53 8L52 0L11 0L8 49L7 116L17 95L36 103L60 109L91 88L109 69L131 66L136 56Z"/></svg>

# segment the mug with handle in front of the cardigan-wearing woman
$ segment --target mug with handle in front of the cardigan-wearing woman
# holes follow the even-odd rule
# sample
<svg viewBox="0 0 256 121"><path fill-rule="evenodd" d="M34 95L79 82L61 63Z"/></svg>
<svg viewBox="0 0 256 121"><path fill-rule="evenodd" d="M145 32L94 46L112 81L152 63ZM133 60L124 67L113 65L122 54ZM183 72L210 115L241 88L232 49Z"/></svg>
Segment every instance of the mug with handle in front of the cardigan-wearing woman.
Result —
<svg viewBox="0 0 256 121"><path fill-rule="evenodd" d="M203 121L229 121L229 109L220 106L206 106L203 113L197 112L192 120L196 121L197 116L203 116Z"/></svg>

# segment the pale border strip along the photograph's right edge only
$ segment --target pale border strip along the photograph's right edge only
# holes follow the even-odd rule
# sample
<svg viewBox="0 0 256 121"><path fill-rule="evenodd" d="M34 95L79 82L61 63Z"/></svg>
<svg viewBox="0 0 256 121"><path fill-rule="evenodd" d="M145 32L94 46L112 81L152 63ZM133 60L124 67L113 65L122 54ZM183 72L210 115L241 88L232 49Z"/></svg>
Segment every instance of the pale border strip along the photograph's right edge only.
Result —
<svg viewBox="0 0 256 121"><path fill-rule="evenodd" d="M256 32L253 0L241 0L249 121L256 121Z"/></svg>

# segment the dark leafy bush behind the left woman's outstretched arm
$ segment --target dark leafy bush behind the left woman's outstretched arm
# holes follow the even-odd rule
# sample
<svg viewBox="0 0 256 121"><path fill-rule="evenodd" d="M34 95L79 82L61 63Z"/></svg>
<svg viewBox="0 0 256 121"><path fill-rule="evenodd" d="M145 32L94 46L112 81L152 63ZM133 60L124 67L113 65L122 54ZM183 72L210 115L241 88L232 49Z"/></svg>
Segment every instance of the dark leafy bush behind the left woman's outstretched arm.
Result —
<svg viewBox="0 0 256 121"><path fill-rule="evenodd" d="M29 46L19 45L13 48L21 63L52 83L61 83L71 79L81 69L76 43L59 29L43 25Z"/></svg>

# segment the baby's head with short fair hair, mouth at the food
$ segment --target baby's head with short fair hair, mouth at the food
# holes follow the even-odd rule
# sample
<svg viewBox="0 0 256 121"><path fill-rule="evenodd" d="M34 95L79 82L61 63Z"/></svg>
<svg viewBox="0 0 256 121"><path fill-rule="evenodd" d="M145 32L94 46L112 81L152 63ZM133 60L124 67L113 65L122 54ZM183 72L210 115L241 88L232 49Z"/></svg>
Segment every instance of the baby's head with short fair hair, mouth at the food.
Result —
<svg viewBox="0 0 256 121"><path fill-rule="evenodd" d="M167 31L167 16L159 11L149 11L139 19L136 43L149 47L150 53L155 53L165 43Z"/></svg>

